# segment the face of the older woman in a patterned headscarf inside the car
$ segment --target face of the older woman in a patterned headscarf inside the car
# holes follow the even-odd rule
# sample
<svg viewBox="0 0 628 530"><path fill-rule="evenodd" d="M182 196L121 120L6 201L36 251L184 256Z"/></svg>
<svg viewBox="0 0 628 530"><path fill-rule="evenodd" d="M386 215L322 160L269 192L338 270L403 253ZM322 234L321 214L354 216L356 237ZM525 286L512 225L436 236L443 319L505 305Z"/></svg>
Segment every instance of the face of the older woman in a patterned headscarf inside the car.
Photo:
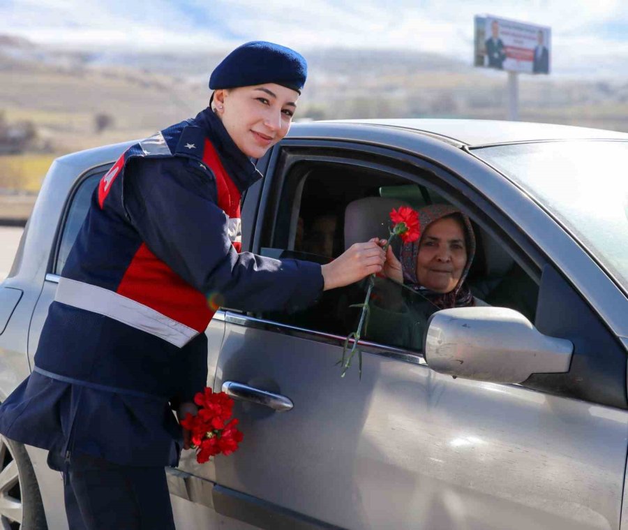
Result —
<svg viewBox="0 0 628 530"><path fill-rule="evenodd" d="M454 217L438 219L421 237L417 255L419 284L437 293L453 290L467 264L465 233Z"/></svg>

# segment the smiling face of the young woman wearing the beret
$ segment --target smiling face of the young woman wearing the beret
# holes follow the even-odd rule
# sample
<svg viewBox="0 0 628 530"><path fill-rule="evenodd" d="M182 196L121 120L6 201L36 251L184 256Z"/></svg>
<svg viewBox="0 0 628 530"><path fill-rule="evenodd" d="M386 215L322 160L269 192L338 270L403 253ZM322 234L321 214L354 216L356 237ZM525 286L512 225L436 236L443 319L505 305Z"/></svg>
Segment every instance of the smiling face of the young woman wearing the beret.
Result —
<svg viewBox="0 0 628 530"><path fill-rule="evenodd" d="M299 93L267 83L216 90L216 115L246 156L260 159L290 130Z"/></svg>

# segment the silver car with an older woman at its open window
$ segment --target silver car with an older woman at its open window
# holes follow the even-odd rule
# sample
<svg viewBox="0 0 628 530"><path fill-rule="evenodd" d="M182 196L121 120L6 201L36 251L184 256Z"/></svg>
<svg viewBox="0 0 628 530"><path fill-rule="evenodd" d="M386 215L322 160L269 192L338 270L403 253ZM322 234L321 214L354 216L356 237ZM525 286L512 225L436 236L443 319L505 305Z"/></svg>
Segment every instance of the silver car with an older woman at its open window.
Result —
<svg viewBox="0 0 628 530"><path fill-rule="evenodd" d="M47 174L0 286L2 399L33 367L91 193L128 145ZM324 262L386 235L390 205L451 203L472 219L469 282L489 307L435 313L424 344L367 335L361 379L336 365L359 286L299 314L218 311L208 385L237 399L244 442L168 470L177 528L628 530L628 134L295 124L258 167L244 250ZM45 456L1 440L1 527L67 528Z"/></svg>

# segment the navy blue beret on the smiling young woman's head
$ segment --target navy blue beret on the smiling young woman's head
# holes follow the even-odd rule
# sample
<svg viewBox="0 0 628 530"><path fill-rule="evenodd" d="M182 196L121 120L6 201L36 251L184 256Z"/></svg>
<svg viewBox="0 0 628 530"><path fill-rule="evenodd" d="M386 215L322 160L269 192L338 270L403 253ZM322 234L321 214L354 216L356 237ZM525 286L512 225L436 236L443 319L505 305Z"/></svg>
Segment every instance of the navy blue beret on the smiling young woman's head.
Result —
<svg viewBox="0 0 628 530"><path fill-rule="evenodd" d="M216 66L209 88L276 83L300 93L307 76L308 64L301 54L278 44L253 41L237 47Z"/></svg>

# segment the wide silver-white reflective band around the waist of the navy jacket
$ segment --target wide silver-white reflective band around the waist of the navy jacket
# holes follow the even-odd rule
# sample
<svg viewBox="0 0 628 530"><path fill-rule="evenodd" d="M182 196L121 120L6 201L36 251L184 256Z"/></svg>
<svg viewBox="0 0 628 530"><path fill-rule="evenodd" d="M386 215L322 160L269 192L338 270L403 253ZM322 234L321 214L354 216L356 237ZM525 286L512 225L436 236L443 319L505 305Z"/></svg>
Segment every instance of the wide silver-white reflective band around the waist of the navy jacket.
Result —
<svg viewBox="0 0 628 530"><path fill-rule="evenodd" d="M155 335L179 348L185 346L198 334L191 327L172 320L144 304L112 290L85 284L82 281L63 277L59 279L54 300L61 304L108 316L137 330Z"/></svg>

